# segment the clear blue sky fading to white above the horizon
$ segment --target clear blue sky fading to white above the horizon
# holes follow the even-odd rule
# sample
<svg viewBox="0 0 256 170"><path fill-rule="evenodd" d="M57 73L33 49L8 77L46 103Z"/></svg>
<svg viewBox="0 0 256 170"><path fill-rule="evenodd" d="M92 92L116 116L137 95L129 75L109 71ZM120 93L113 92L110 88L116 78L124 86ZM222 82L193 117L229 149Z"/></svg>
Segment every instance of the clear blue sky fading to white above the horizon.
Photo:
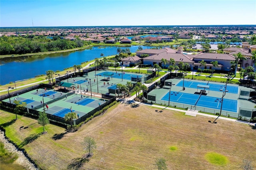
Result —
<svg viewBox="0 0 256 170"><path fill-rule="evenodd" d="M0 27L256 25L256 0L0 0Z"/></svg>

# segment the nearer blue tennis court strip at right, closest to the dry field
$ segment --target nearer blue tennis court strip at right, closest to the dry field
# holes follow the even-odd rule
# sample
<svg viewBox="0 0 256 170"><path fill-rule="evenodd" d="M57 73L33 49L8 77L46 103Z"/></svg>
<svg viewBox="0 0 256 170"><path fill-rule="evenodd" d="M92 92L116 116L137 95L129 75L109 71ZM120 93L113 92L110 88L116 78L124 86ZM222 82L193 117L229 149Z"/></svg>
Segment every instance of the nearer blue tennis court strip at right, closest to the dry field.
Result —
<svg viewBox="0 0 256 170"><path fill-rule="evenodd" d="M184 103L184 104L188 104L188 105L195 105L195 103L199 97L200 97L200 95L171 91L170 101L177 102L177 103ZM161 100L169 101L169 92L166 93L166 95L164 95L164 97L162 97ZM237 101L236 100L224 99L222 101L221 98L209 97L209 96L204 96L204 95L201 95L196 106L207 107L207 108L212 108L212 109L220 109L222 102L223 102L223 104L222 104L223 110L237 112Z"/></svg>

